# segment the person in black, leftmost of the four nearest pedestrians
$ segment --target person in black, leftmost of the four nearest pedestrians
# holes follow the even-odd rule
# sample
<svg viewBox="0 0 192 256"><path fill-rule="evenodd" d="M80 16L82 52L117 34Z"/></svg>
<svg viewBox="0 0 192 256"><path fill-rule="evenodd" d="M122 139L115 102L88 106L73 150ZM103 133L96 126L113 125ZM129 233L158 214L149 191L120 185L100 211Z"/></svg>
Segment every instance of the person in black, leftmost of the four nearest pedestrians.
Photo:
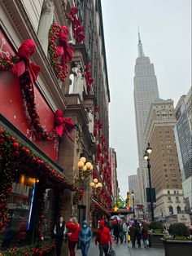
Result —
<svg viewBox="0 0 192 256"><path fill-rule="evenodd" d="M55 234L56 254L57 256L60 256L62 245L63 245L63 239L66 234L66 227L65 227L65 222L63 222L63 217L60 217L59 223L56 223L54 228L54 234Z"/></svg>

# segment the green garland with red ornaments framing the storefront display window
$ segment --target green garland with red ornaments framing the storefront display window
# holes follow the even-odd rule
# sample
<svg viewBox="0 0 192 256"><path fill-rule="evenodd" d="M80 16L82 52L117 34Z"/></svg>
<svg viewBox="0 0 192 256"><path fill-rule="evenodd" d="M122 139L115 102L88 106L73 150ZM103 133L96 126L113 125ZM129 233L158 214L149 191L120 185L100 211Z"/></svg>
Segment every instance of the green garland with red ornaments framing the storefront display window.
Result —
<svg viewBox="0 0 192 256"><path fill-rule="evenodd" d="M59 190L62 192L63 188L68 188L73 192L77 191L77 187L74 183L70 183L63 175L59 174L57 170L54 170L49 163L43 161L40 157L37 157L32 150L24 147L22 143L17 141L7 130L0 127L0 157L2 158L4 168L0 172L0 180L2 182L0 186L0 241L1 236L5 232L5 226L7 223L8 215L8 203L11 195L12 183L15 178L20 174L36 173L37 177L41 179L51 179L55 181ZM43 188L41 195L43 196ZM60 197L61 199L61 197ZM39 198L40 215L39 223L37 227L38 238L42 241L40 227L43 216L43 198ZM61 208L61 206L60 206Z"/></svg>

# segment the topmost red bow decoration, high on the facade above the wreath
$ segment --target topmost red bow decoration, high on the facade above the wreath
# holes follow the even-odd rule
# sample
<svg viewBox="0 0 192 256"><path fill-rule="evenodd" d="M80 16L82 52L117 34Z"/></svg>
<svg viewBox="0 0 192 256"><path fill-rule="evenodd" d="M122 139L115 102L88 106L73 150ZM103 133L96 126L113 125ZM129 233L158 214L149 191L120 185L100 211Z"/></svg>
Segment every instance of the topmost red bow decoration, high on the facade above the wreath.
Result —
<svg viewBox="0 0 192 256"><path fill-rule="evenodd" d="M85 39L85 35L83 33L83 27L81 26L80 21L76 18L76 13L78 10L78 7L72 7L69 14L66 13L66 16L72 21L72 33L73 37L76 39L76 43L81 43Z"/></svg>

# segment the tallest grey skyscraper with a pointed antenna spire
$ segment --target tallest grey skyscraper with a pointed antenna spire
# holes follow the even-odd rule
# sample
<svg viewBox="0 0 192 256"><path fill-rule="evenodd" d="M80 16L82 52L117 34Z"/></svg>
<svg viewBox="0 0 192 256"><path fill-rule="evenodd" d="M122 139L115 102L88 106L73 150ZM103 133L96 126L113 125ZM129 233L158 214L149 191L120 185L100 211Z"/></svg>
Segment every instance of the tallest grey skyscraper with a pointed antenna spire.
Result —
<svg viewBox="0 0 192 256"><path fill-rule="evenodd" d="M144 55L140 33L138 33L138 57L135 64L134 77L134 104L139 162L137 175L138 187L140 188L140 203L142 204L146 202L147 187L146 161L143 160L146 145L143 143L143 134L151 103L157 98L159 98L159 90L154 64L151 64L150 58Z"/></svg>

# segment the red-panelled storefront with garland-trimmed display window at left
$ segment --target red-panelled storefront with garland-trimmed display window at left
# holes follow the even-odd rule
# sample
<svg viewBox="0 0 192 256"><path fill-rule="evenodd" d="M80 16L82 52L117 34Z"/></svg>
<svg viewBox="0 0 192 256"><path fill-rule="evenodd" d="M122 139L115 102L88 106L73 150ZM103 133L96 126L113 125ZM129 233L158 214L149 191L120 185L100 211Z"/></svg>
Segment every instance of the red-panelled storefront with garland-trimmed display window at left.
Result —
<svg viewBox="0 0 192 256"><path fill-rule="evenodd" d="M0 58L17 54L2 28L0 49ZM43 91L33 86L41 126L50 133L55 113ZM64 189L75 192L77 188L57 164L59 137L37 138L21 89L19 77L0 72L0 247L3 251L28 245L29 250L46 252L55 246L51 238L63 211ZM39 247L37 241L44 244Z"/></svg>

